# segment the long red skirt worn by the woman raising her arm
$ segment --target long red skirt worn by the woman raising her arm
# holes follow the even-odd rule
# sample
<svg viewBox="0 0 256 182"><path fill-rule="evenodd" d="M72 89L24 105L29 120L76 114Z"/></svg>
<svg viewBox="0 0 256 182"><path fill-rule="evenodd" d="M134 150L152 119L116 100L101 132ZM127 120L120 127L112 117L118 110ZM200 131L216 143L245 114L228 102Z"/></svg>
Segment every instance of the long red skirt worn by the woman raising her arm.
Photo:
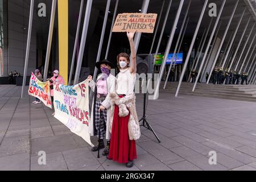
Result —
<svg viewBox="0 0 256 182"><path fill-rule="evenodd" d="M109 159L119 163L127 163L137 159L135 140L129 139L128 121L130 117L119 117L119 107L115 105L113 126L110 140Z"/></svg>

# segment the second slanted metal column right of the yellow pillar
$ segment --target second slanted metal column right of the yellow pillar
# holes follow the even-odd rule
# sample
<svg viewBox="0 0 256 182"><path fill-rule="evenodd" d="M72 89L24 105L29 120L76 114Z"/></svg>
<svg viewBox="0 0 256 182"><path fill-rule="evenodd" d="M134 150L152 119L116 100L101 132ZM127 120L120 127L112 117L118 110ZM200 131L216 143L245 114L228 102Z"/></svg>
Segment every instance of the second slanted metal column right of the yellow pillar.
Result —
<svg viewBox="0 0 256 182"><path fill-rule="evenodd" d="M78 84L79 77L80 77L82 57L84 57L85 41L86 41L89 19L90 19L90 10L92 9L92 1L93 0L87 0L86 11L84 15L84 26L82 27L82 37L81 37L81 43L80 43L80 49L79 49L79 56L77 58L74 85Z"/></svg>

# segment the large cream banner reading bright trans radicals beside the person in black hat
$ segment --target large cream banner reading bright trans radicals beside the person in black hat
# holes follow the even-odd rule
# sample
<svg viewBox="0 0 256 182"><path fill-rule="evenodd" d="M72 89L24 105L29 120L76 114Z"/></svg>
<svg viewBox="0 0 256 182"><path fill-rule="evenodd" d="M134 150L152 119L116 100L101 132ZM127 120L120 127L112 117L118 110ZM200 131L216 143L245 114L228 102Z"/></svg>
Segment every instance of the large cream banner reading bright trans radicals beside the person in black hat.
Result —
<svg viewBox="0 0 256 182"><path fill-rule="evenodd" d="M73 133L90 142L89 133L89 81L66 86L53 83L54 117L67 126Z"/></svg>

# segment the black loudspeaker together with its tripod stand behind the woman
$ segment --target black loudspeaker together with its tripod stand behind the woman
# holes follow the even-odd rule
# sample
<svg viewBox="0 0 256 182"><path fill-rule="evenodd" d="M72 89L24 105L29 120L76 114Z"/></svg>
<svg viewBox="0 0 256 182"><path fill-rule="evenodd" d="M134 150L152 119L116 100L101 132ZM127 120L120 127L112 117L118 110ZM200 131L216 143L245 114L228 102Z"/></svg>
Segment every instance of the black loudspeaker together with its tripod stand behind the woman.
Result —
<svg viewBox="0 0 256 182"><path fill-rule="evenodd" d="M146 127L146 129L152 131L152 133L155 135L156 139L158 139L158 142L160 143L161 142L160 139L156 135L150 123L147 122L147 118L146 118L147 73L154 74L154 57L148 54L141 54L141 55L137 55L136 61L137 61L137 73L139 75L143 73L146 75L146 93L144 93L144 98L143 98L143 116L139 120L139 122L142 122L141 126Z"/></svg>

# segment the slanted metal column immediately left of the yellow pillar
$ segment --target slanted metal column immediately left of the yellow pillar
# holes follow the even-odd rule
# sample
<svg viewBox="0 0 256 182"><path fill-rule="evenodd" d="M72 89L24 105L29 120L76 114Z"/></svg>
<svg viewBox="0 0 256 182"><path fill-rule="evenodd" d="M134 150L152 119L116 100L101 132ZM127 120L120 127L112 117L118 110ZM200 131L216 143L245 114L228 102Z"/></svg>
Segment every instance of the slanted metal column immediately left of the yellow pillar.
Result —
<svg viewBox="0 0 256 182"><path fill-rule="evenodd" d="M52 47L52 32L54 27L55 11L56 11L56 2L57 0L52 0L51 19L49 24L49 35L48 35L48 43L47 43L47 50L46 50L46 62L44 63L44 77L43 77L44 81L47 80L47 75L48 75L49 57L51 54L51 47Z"/></svg>

